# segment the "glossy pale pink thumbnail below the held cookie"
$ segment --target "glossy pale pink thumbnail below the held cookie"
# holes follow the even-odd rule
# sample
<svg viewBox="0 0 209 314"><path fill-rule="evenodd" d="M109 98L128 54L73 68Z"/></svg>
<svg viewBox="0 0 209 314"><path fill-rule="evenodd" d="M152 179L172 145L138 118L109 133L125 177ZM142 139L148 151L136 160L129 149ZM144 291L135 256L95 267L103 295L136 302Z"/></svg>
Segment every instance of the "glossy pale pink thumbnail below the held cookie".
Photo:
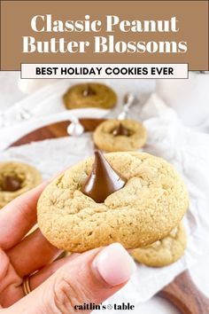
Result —
<svg viewBox="0 0 209 314"><path fill-rule="evenodd" d="M104 247L93 264L104 281L112 287L128 281L136 269L135 262L120 243Z"/></svg>

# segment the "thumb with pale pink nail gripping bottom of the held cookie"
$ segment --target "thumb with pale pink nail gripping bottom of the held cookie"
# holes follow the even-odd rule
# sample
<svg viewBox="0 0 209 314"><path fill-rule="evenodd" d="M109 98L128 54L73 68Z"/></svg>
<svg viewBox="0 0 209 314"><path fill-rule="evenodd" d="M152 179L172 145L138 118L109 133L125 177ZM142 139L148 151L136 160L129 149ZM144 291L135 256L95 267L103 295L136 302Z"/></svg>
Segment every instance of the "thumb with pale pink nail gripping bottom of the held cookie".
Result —
<svg viewBox="0 0 209 314"><path fill-rule="evenodd" d="M10 313L30 309L30 314L88 314L93 310L92 303L103 302L125 286L133 271L135 263L119 243L91 250L66 263L43 285L13 304Z"/></svg>

